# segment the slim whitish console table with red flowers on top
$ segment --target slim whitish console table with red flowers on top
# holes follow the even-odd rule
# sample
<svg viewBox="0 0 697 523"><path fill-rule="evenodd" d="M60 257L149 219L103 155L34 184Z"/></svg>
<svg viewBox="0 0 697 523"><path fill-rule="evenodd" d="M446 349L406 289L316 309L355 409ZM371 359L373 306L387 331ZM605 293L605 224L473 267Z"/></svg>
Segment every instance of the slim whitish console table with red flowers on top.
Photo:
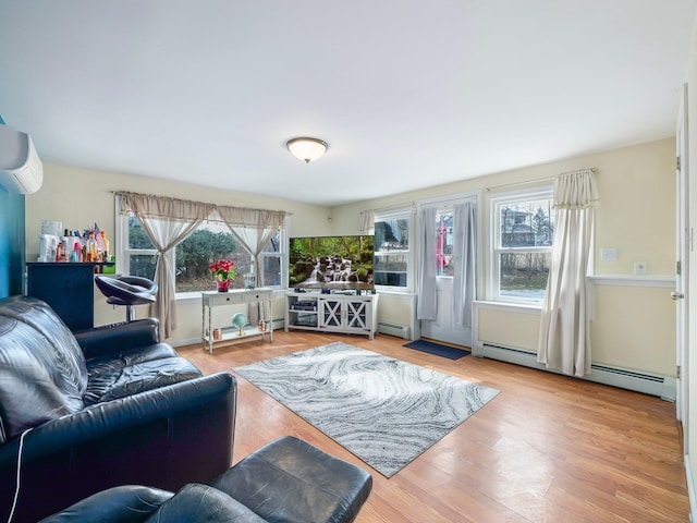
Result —
<svg viewBox="0 0 697 523"><path fill-rule="evenodd" d="M212 354L216 344L230 344L241 341L249 341L250 339L264 340L267 336L269 341L273 341L273 321L270 316L267 318L266 311L268 307L269 315L273 311L273 290L272 289L240 289L229 292L204 291L201 294L201 345L204 350L208 350ZM266 330L259 329L258 326L247 326L242 329L242 335L237 327L227 325L224 327L213 326L212 309L223 305L241 305L261 303L261 313L259 320L266 323ZM249 314L247 314L249 317ZM213 331L221 330L219 338L213 338Z"/></svg>

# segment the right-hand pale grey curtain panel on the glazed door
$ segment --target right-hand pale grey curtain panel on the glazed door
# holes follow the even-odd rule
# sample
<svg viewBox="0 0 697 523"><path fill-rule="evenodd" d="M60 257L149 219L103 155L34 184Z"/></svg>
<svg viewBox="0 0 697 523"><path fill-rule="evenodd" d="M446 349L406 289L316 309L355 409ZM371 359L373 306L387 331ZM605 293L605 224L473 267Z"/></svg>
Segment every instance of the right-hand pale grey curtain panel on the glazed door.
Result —
<svg viewBox="0 0 697 523"><path fill-rule="evenodd" d="M453 318L457 327L472 328L475 300L476 206L472 202L453 207Z"/></svg>

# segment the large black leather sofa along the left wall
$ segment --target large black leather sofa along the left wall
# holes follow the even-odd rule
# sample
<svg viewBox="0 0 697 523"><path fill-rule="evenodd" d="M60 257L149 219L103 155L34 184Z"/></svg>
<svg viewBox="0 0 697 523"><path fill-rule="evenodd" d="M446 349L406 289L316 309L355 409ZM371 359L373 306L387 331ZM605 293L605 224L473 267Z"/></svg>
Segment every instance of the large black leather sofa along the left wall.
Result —
<svg viewBox="0 0 697 523"><path fill-rule="evenodd" d="M230 467L235 403L234 377L204 377L155 318L73 335L39 300L0 300L0 521L17 479L14 523L119 485L209 482Z"/></svg>

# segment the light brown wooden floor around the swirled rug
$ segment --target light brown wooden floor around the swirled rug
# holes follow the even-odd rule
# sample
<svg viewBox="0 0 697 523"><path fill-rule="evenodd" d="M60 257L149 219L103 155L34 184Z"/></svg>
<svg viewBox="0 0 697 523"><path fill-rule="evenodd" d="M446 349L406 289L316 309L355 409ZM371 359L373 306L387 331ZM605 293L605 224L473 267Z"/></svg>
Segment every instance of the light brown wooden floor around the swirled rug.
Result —
<svg viewBox="0 0 697 523"><path fill-rule="evenodd" d="M235 463L285 434L356 463L374 477L358 523L688 521L675 405L658 398L493 360L452 362L382 335L277 330L272 343L178 352L210 374L332 341L501 393L388 479L237 376Z"/></svg>

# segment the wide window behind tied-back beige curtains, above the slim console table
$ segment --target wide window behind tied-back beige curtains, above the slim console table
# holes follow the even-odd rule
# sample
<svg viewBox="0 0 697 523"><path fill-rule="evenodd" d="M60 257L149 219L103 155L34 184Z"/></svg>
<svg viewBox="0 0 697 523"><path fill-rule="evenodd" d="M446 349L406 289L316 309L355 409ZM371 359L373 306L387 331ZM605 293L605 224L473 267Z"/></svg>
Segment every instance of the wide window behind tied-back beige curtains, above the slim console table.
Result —
<svg viewBox="0 0 697 523"><path fill-rule="evenodd" d="M118 223L121 254L117 257L119 272L155 279L157 250L134 216L119 216ZM282 284L281 267L284 230L279 228L274 236L259 255L261 264L257 287L280 287ZM200 292L212 290L209 265L216 259L232 259L237 276L231 289L245 287L244 275L249 273L253 257L230 232L230 229L217 222L204 222L186 240L174 250L172 267L175 271L175 292Z"/></svg>

